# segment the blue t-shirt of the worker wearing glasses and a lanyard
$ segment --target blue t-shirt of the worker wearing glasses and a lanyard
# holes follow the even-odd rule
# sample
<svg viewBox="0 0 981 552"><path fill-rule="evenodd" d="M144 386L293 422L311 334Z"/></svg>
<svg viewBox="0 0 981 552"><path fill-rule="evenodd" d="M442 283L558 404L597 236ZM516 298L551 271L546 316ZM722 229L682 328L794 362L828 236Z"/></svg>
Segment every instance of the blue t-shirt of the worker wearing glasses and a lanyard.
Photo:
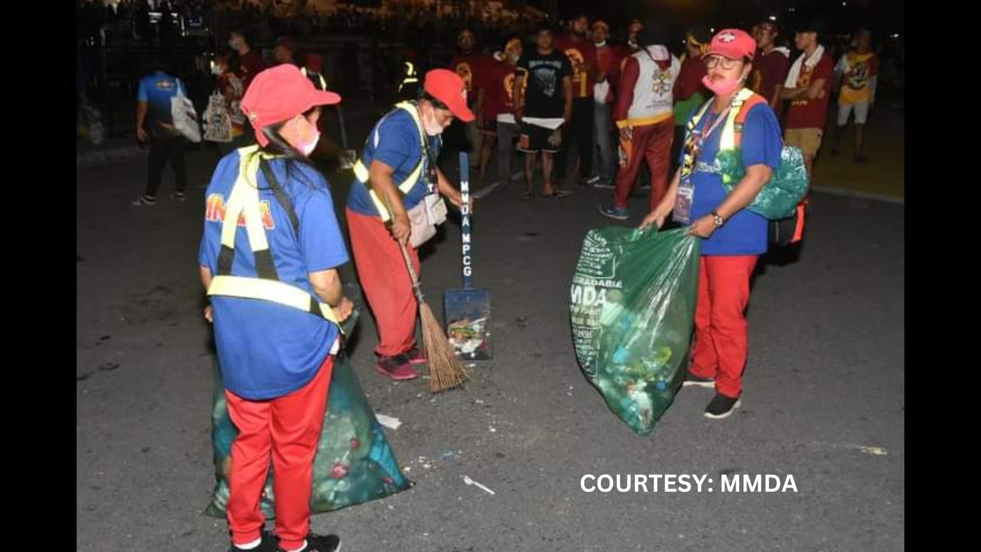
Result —
<svg viewBox="0 0 981 552"><path fill-rule="evenodd" d="M698 122L696 129L702 132L707 130L705 124L708 119L706 113ZM692 222L718 208L728 194L722 187L722 176L718 174L719 167L715 163L715 155L719 152L719 140L722 138L724 127L725 123L720 124L705 140L701 154L698 155L691 177L692 184L695 186ZM783 139L780 123L777 122L777 117L769 105L760 103L749 109L743 125L741 148L745 167L767 165L775 169L780 165ZM682 151L682 159L684 155L685 152ZM765 253L766 245L766 219L744 208L730 217L721 228L715 229L711 238L702 240L701 254L756 255Z"/></svg>

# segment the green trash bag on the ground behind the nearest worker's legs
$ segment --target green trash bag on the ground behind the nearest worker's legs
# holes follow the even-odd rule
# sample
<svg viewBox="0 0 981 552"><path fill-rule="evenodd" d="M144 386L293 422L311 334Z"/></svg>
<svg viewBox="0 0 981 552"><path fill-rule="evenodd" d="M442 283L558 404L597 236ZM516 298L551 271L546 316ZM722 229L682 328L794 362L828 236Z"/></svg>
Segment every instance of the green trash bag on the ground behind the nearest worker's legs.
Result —
<svg viewBox="0 0 981 552"><path fill-rule="evenodd" d="M313 465L311 512L333 512L409 488L411 482L398 469L382 425L375 419L375 413L368 405L344 353L335 359L328 401L328 412L324 417L324 429ZM225 507L229 501L232 440L238 431L229 417L225 385L217 368L211 417L218 483L205 514L225 518ZM262 512L269 520L276 517L274 500L271 471L262 497Z"/></svg>

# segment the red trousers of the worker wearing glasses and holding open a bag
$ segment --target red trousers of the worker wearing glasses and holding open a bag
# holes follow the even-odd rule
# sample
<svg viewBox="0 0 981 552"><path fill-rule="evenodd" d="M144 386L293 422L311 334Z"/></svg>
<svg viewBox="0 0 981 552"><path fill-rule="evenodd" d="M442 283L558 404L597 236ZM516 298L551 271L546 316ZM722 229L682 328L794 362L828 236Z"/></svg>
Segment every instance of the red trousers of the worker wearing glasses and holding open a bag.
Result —
<svg viewBox="0 0 981 552"><path fill-rule="evenodd" d="M702 256L698 271L695 346L690 371L714 378L715 390L736 398L743 392L749 350L746 307L756 255Z"/></svg>

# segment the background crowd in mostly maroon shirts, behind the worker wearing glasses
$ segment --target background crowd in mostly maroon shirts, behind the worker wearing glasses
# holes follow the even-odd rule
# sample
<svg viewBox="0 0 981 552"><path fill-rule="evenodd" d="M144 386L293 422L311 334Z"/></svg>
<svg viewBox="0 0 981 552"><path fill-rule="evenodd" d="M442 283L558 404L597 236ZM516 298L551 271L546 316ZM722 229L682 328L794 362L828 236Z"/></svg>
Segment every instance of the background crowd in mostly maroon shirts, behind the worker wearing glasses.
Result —
<svg viewBox="0 0 981 552"><path fill-rule="evenodd" d="M836 103L832 153L838 153L844 129L853 123L854 160L866 162L863 129L880 68L871 32L857 30L841 51L827 43L831 37L819 23L795 30L791 38L798 53L782 45L785 31L772 21L748 29L756 44L749 88L774 110L785 141L800 147L808 171ZM611 189L612 204L601 211L624 220L645 169L651 206L656 205L680 164L684 125L711 95L702 83L711 32L702 25L690 28L681 56L672 51L658 20L632 22L620 43L611 43L609 36L606 22L585 15L571 20L564 33L546 25L532 43L516 34L487 52L476 46L471 30L459 33L459 51L449 67L464 78L480 112L463 134L482 175L488 173L494 144L501 183L511 175L511 151L523 152L528 189L522 195L531 197L532 170L542 153L544 194L562 196L576 185ZM579 153L574 165L568 159L573 148ZM567 177L570 166L578 168Z"/></svg>

